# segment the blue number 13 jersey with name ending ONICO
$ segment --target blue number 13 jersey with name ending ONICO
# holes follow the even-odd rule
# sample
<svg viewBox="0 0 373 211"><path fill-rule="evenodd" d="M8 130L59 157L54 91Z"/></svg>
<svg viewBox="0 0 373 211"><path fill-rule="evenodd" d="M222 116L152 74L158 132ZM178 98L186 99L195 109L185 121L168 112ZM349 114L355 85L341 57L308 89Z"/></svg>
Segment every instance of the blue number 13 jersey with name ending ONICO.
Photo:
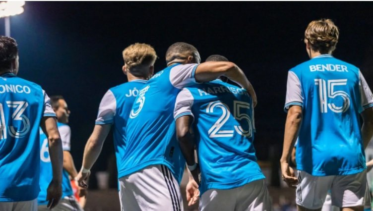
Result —
<svg viewBox="0 0 373 211"><path fill-rule="evenodd" d="M43 116L56 114L39 85L12 73L0 76L0 202L37 198Z"/></svg>

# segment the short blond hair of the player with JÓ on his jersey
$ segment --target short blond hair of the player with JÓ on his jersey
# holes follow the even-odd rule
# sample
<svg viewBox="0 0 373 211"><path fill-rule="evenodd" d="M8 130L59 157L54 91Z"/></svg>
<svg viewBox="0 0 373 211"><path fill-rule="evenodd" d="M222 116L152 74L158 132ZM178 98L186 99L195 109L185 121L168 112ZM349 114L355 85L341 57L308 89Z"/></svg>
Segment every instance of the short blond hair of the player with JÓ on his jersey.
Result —
<svg viewBox="0 0 373 211"><path fill-rule="evenodd" d="M127 66L127 70L135 76L143 76L137 67L153 66L157 59L157 53L153 47L145 43L135 43L123 51L124 64Z"/></svg>

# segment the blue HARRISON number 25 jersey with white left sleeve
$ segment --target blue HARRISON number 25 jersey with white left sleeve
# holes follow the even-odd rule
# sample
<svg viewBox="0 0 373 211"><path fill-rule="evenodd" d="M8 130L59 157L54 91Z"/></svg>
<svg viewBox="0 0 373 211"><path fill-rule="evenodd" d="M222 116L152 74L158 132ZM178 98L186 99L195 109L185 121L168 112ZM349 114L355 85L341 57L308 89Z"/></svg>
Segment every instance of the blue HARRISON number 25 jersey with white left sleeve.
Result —
<svg viewBox="0 0 373 211"><path fill-rule="evenodd" d="M256 163L254 113L246 90L221 80L184 88L174 116L184 115L194 117L201 194L265 178Z"/></svg>

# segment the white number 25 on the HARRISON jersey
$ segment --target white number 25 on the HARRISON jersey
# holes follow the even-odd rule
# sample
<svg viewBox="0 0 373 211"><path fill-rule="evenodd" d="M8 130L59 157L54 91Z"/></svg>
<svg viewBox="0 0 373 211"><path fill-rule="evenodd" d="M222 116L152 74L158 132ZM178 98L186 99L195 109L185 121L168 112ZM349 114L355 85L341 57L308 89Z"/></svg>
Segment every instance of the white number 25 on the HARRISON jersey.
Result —
<svg viewBox="0 0 373 211"><path fill-rule="evenodd" d="M212 113L214 112L214 108L218 107L220 108L223 113L218 118L218 120L215 122L215 124L212 125L212 127L208 130L208 134L210 138L215 137L233 137L234 130L220 130L221 127L228 121L229 116L231 115L231 112L229 110L229 107L220 102L220 101L214 101L207 105L206 112ZM248 122L248 130L244 130L241 125L234 125L235 131L240 134L241 136L245 137L251 137L252 135L252 123L249 115L245 112L242 112L242 109L250 109L250 104L241 102L241 101L234 101L234 118L237 120L245 119Z"/></svg>

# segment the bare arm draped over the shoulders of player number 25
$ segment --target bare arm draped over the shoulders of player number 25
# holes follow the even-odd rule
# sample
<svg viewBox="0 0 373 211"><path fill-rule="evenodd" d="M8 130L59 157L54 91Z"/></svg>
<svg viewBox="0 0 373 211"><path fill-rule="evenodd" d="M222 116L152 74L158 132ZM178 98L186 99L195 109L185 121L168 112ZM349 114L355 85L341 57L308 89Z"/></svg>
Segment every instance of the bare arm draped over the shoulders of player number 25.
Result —
<svg viewBox="0 0 373 211"><path fill-rule="evenodd" d="M256 106L256 94L254 88L246 77L244 71L235 63L229 61L207 61L199 64L195 70L195 81L208 82L224 75L231 81L236 82L242 88L246 89Z"/></svg>

